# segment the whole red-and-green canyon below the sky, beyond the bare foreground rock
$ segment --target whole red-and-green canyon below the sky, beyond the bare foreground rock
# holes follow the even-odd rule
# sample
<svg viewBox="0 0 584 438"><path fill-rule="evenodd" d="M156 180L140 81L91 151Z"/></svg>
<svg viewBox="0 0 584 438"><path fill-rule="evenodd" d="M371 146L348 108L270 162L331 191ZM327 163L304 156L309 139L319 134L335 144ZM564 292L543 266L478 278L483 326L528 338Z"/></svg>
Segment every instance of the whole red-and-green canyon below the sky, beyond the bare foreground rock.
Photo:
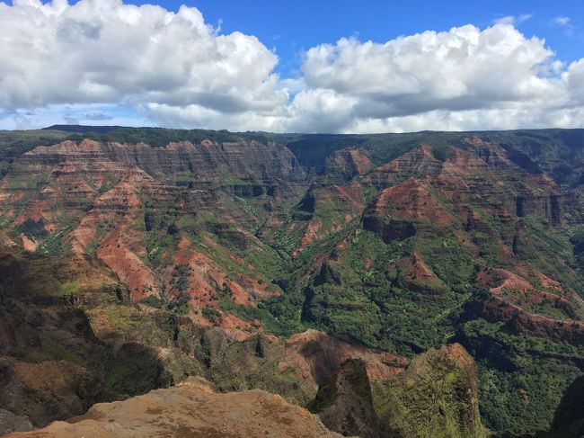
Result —
<svg viewBox="0 0 584 438"><path fill-rule="evenodd" d="M295 405L341 434L546 434L582 373L584 130L58 127L0 132L0 161L0 408L21 425L88 431L94 404L145 415L197 376L323 436ZM460 415L428 408L434 380ZM358 418L331 389L355 382Z"/></svg>

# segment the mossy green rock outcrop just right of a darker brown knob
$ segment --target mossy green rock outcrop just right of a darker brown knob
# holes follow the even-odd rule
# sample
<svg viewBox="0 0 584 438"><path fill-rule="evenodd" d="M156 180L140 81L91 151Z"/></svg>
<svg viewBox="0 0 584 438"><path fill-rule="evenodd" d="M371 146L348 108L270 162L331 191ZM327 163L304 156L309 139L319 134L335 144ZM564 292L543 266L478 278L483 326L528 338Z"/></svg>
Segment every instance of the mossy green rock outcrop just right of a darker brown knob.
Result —
<svg viewBox="0 0 584 438"><path fill-rule="evenodd" d="M389 436L484 438L477 368L460 344L415 357L392 380L373 382L376 414Z"/></svg>

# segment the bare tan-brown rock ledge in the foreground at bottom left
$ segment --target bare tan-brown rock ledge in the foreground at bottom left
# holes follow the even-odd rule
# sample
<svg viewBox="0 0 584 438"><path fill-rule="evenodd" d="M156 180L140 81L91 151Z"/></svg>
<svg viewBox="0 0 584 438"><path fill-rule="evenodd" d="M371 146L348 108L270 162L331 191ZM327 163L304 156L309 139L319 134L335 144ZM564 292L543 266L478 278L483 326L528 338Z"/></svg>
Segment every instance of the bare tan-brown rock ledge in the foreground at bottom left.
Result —
<svg viewBox="0 0 584 438"><path fill-rule="evenodd" d="M340 437L302 407L261 390L219 394L205 380L99 404L84 416L13 437Z"/></svg>

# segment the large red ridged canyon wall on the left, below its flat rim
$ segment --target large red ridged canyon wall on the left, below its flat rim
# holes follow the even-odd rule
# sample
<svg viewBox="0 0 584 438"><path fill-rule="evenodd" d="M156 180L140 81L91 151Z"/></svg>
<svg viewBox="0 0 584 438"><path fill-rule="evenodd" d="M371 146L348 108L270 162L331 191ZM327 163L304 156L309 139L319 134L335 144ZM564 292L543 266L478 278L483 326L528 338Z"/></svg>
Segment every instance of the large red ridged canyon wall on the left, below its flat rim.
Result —
<svg viewBox="0 0 584 438"><path fill-rule="evenodd" d="M0 214L21 232L22 246L29 250L94 256L128 284L132 300L167 296L189 303L197 310L193 320L210 326L215 321L199 310L218 308L217 291L248 307L278 293L267 290L270 279L262 273L249 273L257 267L243 265L243 274L224 266L232 260L243 264L237 250L261 246L237 199L251 200L269 218L304 185L296 157L272 142L203 140L150 147L66 140L20 157L0 183ZM185 243L185 234L193 237L202 230L219 242L199 244L216 246L226 260L217 264L217 258L210 260ZM183 266L193 273L177 287L175 272ZM235 338L248 336L244 329L250 324L217 312Z"/></svg>

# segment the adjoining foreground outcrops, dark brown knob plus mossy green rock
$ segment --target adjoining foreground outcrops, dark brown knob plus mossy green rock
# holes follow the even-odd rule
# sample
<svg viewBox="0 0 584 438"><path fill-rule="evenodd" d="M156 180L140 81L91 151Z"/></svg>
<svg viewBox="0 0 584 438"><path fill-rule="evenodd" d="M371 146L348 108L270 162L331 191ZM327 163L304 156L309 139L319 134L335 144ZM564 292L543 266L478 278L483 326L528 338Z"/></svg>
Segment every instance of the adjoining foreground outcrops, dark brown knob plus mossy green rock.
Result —
<svg viewBox="0 0 584 438"><path fill-rule="evenodd" d="M420 354L390 380L370 381L365 362L344 362L319 386L309 406L324 425L343 435L486 436L479 416L476 364L460 344Z"/></svg>

